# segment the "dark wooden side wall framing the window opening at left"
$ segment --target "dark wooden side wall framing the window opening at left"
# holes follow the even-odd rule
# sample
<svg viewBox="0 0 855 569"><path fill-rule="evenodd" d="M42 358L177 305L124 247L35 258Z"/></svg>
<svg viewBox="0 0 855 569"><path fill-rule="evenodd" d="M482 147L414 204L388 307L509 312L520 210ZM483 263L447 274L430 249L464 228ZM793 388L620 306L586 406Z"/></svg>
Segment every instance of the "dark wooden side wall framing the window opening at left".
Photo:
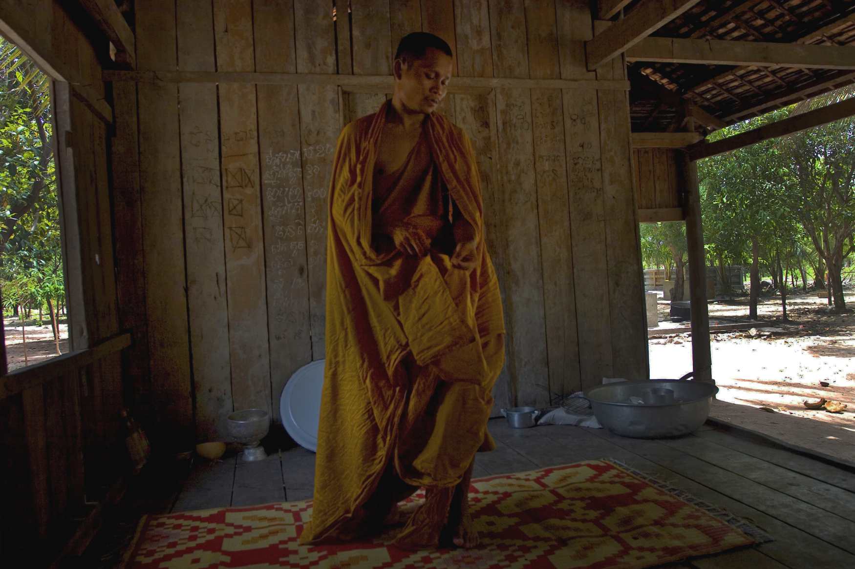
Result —
<svg viewBox="0 0 855 569"><path fill-rule="evenodd" d="M89 85L96 97L104 97L99 55L105 54L93 47L77 20L52 0L32 0L27 10L18 4L0 2L4 32L11 32L55 78ZM113 126L92 114L72 91L66 81L53 85L52 142L61 191L69 331L72 349L80 350L120 330L116 275L124 264L115 261L115 194L107 164ZM119 177L123 188L133 187L121 171ZM74 531L74 520L84 518L127 471L119 414L124 396L121 355L112 354L0 399L4 563L47 566Z"/></svg>

